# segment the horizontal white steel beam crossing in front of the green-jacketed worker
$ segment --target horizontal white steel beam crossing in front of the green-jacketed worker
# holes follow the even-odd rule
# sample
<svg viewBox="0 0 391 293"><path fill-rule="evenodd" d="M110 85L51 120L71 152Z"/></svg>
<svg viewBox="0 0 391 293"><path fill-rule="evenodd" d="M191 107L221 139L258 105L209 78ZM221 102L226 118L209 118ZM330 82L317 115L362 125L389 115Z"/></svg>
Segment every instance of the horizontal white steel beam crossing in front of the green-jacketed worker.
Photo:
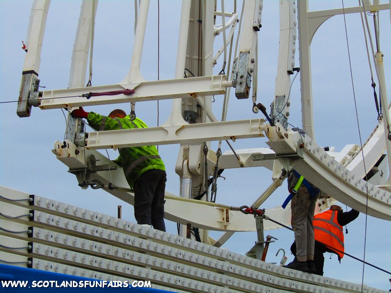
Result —
<svg viewBox="0 0 391 293"><path fill-rule="evenodd" d="M197 145L205 141L264 137L263 119L211 122L139 129L89 132L88 149L168 144ZM87 135L86 135L87 136Z"/></svg>

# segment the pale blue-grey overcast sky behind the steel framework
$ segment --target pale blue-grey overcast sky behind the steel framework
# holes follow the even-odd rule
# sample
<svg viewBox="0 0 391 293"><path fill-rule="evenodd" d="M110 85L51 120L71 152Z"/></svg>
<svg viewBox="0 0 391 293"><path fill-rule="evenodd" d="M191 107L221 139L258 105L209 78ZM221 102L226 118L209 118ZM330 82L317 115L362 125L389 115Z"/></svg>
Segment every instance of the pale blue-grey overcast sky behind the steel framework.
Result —
<svg viewBox="0 0 391 293"><path fill-rule="evenodd" d="M21 49L26 40L32 0L0 0L1 66L0 102L18 99L25 52ZM358 1L344 1L346 7ZM61 89L68 86L70 61L77 28L81 1L52 0L43 41L42 63L39 78L46 89ZM177 48L177 31L180 16L180 1L160 1L160 79L173 79ZM227 4L228 6L228 4ZM226 6L226 10L227 9ZM268 108L273 101L277 73L279 44L279 7L277 0L264 1L262 28L259 32L259 79L258 100ZM341 1L316 1L311 10L342 7ZM240 9L240 7L239 7ZM134 4L128 0L100 0L96 16L95 45L93 61L93 85L116 84L128 74L130 54L133 46ZM386 78L390 79L391 42L390 14L380 13L381 50L384 53ZM365 141L377 123L377 112L373 102L368 59L359 15L347 15L347 31L352 61L354 92L358 103L358 118L362 140ZM372 22L370 22L372 23ZM145 39L141 74L146 80L157 80L157 1L152 0ZM359 144L356 112L348 63L347 41L343 16L326 21L316 33L311 49L312 89L317 143L321 146L335 146L340 151L348 144ZM296 66L299 57L296 56ZM221 61L215 71L221 69ZM390 84L390 83L388 83ZM377 87L378 88L378 87ZM388 89L389 92L391 89ZM221 100L221 99L220 99ZM221 117L221 103L217 99L214 108L216 117ZM390 100L390 98L389 98ZM220 104L219 104L220 103ZM302 126L300 104L300 76L292 86L289 122ZM129 111L129 105L121 105ZM109 215L116 215L117 205L123 205L123 218L134 221L133 207L119 201L103 190L82 190L77 186L74 175L55 158L51 149L56 140L63 140L65 118L61 110L33 108L31 117L19 118L16 103L0 104L0 185L34 193ZM251 111L250 100L230 99L227 120L263 118L261 113ZM86 107L87 111L107 114L113 105ZM156 102L138 103L136 112L149 126L157 125ZM171 112L171 101L159 103L159 125L164 123ZM88 130L90 131L90 130ZM236 149L267 147L266 139L251 139L233 144ZM212 146L216 146L213 144ZM167 190L179 193L179 177L174 172L179 146L160 146L159 152L166 164ZM227 150L223 145L223 152ZM216 147L215 147L216 150ZM112 156L112 158L111 158ZM110 152L110 158L116 154ZM251 205L271 183L271 173L261 168L225 170L226 179L219 179L217 202L232 205ZM240 180L238 180L240 178ZM287 196L286 183L279 188L262 208L281 205ZM342 205L345 208L345 205ZM364 214L348 225L345 236L346 252L363 258L365 238ZM168 231L176 233L173 223L167 223ZM267 261L279 262L279 248L289 252L293 233L286 229L265 231L279 240L270 245ZM218 238L220 233L213 232ZM236 233L225 248L245 253L256 241L256 233ZM391 223L368 217L366 261L391 271ZM361 283L362 264L345 257L341 264L335 255L325 254L325 276ZM387 273L365 266L364 283L368 286L388 290Z"/></svg>

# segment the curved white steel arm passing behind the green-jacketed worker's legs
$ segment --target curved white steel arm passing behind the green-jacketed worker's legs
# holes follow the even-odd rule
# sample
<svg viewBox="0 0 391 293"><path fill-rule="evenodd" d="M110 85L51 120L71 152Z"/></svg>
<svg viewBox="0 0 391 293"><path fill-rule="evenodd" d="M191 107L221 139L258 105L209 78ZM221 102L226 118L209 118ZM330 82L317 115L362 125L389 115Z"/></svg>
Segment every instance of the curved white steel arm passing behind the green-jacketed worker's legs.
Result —
<svg viewBox="0 0 391 293"><path fill-rule="evenodd" d="M114 132L114 131L110 131ZM75 173L81 170L82 175L85 174L85 170L88 164L86 158L93 155L96 159L96 167L112 165L107 157L99 153L97 150L91 150L83 147L77 147L70 141L66 141L66 147L62 148L62 142L55 142L53 153L57 159L63 162L69 167L71 173ZM80 178L78 178L80 179ZM82 178L83 179L83 178ZM134 205L134 195L132 192L125 191L129 190L129 185L126 182L123 170L118 167L116 170L103 170L98 172L87 172L86 179L89 182L98 180L106 187L109 183L112 183L113 188L105 188L105 191L116 196L117 198ZM219 205L215 203L205 203L195 200L186 200L175 196L174 194L166 191L166 203L165 203L165 219L175 221L180 224L186 225L191 223L192 227L209 230L231 230L231 231L254 231L255 222L254 216L251 214L244 214L239 210L231 210L229 206ZM245 204L245 203L244 203ZM200 217L199 215L203 216ZM274 209L270 210L271 218L279 219L280 215L275 214ZM284 222L285 223L285 222ZM265 222L266 229L276 229L278 225L273 222Z"/></svg>

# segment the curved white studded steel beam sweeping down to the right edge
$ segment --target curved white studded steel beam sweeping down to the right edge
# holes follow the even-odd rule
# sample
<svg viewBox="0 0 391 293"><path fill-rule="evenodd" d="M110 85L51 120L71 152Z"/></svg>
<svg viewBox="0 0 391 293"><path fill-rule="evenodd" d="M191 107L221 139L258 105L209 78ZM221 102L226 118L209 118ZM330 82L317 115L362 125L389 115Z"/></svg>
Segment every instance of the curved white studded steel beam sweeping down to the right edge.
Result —
<svg viewBox="0 0 391 293"><path fill-rule="evenodd" d="M391 220L390 192L367 183L339 164L309 136L305 135L302 140L297 132L291 132L287 139L278 129L282 127L268 126L266 130L270 140L267 144L277 157L282 155L281 160L289 160L287 164L294 166L304 178L341 203L363 213L368 211L370 216ZM296 135L296 138L293 139L292 135Z"/></svg>

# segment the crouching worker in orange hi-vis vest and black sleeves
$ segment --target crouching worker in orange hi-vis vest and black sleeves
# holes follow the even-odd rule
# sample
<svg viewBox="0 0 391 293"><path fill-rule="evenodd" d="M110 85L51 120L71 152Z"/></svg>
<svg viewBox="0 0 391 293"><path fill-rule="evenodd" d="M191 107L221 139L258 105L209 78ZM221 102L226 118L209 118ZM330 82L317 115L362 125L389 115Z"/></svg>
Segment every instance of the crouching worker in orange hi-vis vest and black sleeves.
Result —
<svg viewBox="0 0 391 293"><path fill-rule="evenodd" d="M344 212L340 206L333 205L330 209L314 216L314 263L317 274L323 276L323 266L325 263L323 253L336 253L339 261L344 257L345 247L342 226L356 219L358 215L359 212L355 209ZM295 242L291 246L291 251L296 256Z"/></svg>

